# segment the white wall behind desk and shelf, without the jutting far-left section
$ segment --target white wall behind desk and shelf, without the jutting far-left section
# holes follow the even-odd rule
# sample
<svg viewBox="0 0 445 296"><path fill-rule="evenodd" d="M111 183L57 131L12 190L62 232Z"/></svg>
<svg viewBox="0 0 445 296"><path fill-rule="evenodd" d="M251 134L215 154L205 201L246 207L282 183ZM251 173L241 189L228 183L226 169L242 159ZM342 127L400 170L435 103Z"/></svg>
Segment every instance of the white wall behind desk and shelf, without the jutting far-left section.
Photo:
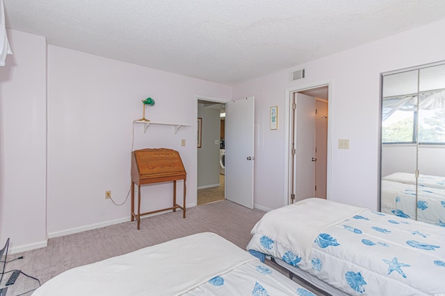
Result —
<svg viewBox="0 0 445 296"><path fill-rule="evenodd" d="M129 200L116 207L104 194L111 190L122 202L129 191L132 121L142 117L147 96L156 101L147 107L147 119L192 126L174 134L172 126L150 125L144 134L135 125L133 149L178 150L187 171L187 204L196 204L196 95L228 100L230 87L57 46L49 46L48 60L50 235L128 220ZM181 183L177 190L181 200ZM172 184L143 186L141 194L141 211L170 207Z"/></svg>

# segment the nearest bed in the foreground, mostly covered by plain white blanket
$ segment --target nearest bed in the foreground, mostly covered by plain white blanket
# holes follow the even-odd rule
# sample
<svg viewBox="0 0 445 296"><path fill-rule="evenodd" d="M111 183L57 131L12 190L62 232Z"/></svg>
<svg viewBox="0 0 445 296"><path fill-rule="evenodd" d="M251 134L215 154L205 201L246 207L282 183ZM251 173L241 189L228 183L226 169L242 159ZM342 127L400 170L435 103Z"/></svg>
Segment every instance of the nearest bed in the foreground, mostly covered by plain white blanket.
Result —
<svg viewBox="0 0 445 296"><path fill-rule="evenodd" d="M194 234L61 273L33 296L314 295L213 233Z"/></svg>

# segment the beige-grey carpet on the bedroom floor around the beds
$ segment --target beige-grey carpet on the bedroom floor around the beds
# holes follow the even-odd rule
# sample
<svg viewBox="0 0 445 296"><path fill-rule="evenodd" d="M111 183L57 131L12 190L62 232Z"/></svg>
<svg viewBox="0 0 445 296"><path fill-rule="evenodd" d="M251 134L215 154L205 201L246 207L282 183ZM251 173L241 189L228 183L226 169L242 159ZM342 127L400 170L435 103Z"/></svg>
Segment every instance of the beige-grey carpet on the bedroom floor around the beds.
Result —
<svg viewBox="0 0 445 296"><path fill-rule="evenodd" d="M264 211L248 209L228 200L213 202L187 209L185 219L182 218L182 211L143 218L140 230L136 229L136 222L126 222L51 238L47 247L8 256L8 261L22 255L24 259L8 263L6 270L22 270L40 279L43 284L70 268L198 232L214 232L244 250L250 241L250 229L263 214ZM2 287L9 275L3 278ZM19 275L7 296L28 296L31 292L26 291L37 287L38 282L34 279ZM316 291L314 293L321 295Z"/></svg>

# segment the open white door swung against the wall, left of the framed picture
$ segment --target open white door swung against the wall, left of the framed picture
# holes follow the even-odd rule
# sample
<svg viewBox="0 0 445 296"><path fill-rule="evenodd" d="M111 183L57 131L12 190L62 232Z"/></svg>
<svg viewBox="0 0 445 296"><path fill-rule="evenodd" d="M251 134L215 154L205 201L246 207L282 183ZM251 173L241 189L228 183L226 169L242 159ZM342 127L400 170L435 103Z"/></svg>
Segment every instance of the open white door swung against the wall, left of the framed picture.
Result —
<svg viewBox="0 0 445 296"><path fill-rule="evenodd" d="M225 198L253 209L254 97L227 103Z"/></svg>

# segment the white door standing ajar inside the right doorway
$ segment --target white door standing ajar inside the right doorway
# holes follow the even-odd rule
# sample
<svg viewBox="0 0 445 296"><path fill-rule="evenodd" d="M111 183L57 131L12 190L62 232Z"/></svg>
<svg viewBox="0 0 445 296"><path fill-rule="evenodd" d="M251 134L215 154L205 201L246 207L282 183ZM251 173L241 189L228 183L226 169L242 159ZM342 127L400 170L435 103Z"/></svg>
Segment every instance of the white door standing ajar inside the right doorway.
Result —
<svg viewBox="0 0 445 296"><path fill-rule="evenodd" d="M313 198L315 190L315 98L296 98L296 201Z"/></svg>

